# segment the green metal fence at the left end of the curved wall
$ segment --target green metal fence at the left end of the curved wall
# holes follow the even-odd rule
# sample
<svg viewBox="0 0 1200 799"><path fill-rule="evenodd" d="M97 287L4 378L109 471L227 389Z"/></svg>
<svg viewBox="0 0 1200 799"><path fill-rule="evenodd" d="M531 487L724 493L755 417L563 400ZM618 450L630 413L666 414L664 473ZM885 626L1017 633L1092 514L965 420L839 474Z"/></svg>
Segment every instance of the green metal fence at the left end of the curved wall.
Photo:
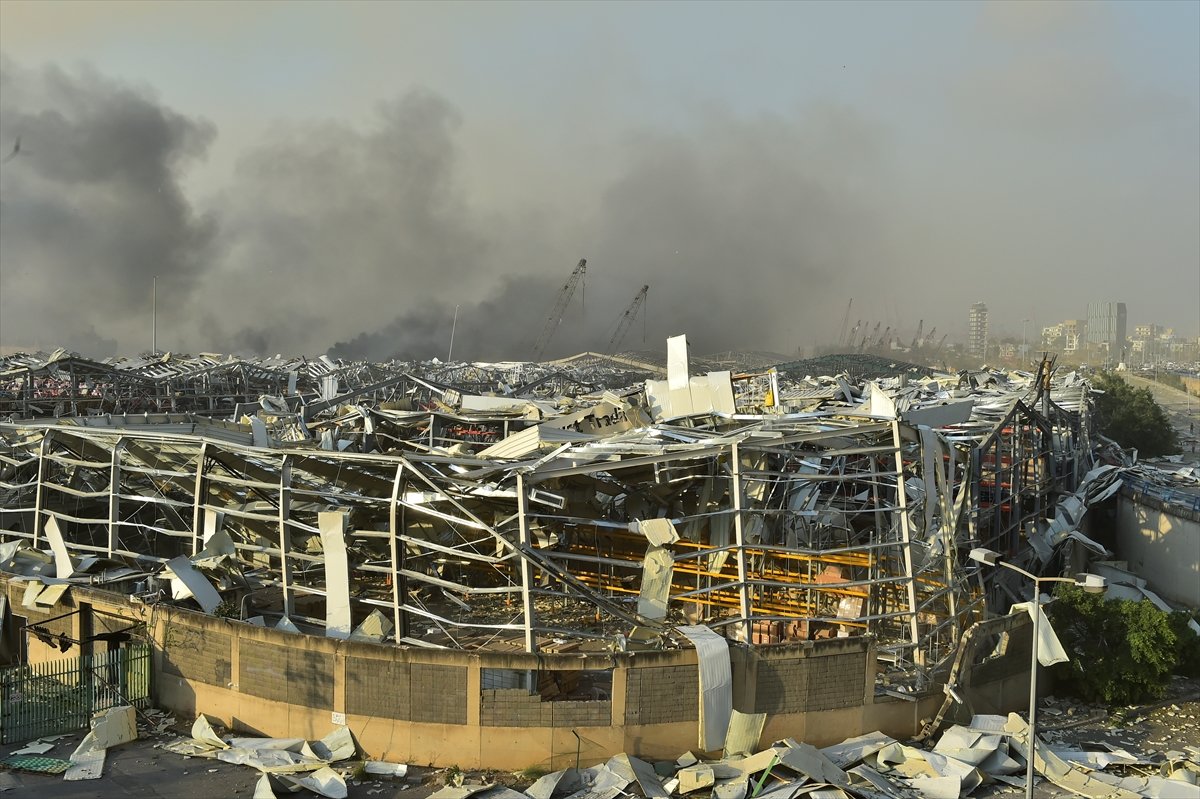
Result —
<svg viewBox="0 0 1200 799"><path fill-rule="evenodd" d="M0 744L88 727L94 713L150 699L150 645L0 669Z"/></svg>

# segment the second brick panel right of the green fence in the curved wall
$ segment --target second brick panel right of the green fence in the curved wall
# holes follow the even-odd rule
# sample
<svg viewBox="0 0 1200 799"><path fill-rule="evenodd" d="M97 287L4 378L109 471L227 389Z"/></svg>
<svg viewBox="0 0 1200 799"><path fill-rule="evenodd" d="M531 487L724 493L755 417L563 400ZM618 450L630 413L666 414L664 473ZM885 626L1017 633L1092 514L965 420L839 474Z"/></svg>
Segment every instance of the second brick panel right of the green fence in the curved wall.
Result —
<svg viewBox="0 0 1200 799"><path fill-rule="evenodd" d="M239 641L241 691L264 699L329 710L334 707L334 656L259 641Z"/></svg>

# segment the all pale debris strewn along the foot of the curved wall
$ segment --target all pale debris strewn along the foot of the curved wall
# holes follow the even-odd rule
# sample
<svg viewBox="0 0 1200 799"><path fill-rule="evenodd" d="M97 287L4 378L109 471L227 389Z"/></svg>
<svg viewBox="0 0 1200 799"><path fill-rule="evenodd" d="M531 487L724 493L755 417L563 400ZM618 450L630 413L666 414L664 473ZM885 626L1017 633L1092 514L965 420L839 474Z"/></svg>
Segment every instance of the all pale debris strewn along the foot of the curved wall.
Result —
<svg viewBox="0 0 1200 799"><path fill-rule="evenodd" d="M1169 729L1181 733L1198 726L1196 691L1156 705L1128 708L1122 714L1162 716ZM1177 703L1178 702L1178 703ZM1099 717L1097 717L1099 713ZM875 732L822 749L785 739L762 747L762 715L734 716L725 737L721 757L685 752L671 762L647 762L618 755L586 768L551 774L529 769L506 774L431 771L404 763L361 759L348 728L335 726L320 740L256 738L222 731L199 716L190 735L170 732L173 720L155 709L137 711L139 729L130 727L131 708L116 708L113 719L92 725L92 732L70 759L47 756L65 735L32 741L13 751L0 768L41 775L65 774L65 779L98 779L79 752L95 751L88 741L103 739L107 746L130 745L136 738L145 746L200 763L229 763L253 768L258 774L254 797L269 799L307 789L317 795L344 799L349 795L392 795L401 791L434 786L437 799L617 799L617 797L692 797L695 799L991 799L1024 793L1027 769L1028 728L1015 715L977 715L964 725L946 728L924 741L900 741ZM1188 799L1200 797L1200 746L1178 738L1142 741L1134 731L1105 722L1103 708L1048 698L1039 716L1036 767L1038 795L1081 795L1111 799ZM1190 719L1187 721L1187 719ZM112 723L113 721L122 723ZM1097 723L1099 722L1099 723ZM110 729L106 729L112 727ZM1081 729L1086 727L1086 729ZM100 729L101 732L97 732ZM122 732L124 731L124 732ZM1141 731L1145 738L1146 731ZM103 758L101 757L101 767ZM581 764L582 765L582 764ZM178 769L176 769L178 770ZM186 769L203 780L214 769ZM530 771L533 771L530 774ZM0 771L0 791L4 789ZM391 782L397 780L398 782ZM14 783L18 787L25 783ZM395 786L395 787L389 787ZM1054 786L1044 793L1043 786ZM425 795L424 793L421 795Z"/></svg>

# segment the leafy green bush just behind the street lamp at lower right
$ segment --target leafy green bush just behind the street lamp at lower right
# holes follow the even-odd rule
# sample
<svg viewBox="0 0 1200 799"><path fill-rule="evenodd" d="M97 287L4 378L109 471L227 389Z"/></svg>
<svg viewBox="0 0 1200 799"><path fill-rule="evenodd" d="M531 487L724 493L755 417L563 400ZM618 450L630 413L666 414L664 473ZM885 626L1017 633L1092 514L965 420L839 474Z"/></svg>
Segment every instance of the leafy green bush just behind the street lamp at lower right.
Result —
<svg viewBox="0 0 1200 799"><path fill-rule="evenodd" d="M1054 674L1088 702L1160 698L1181 656L1194 656L1195 633L1186 618L1172 623L1150 602L1105 600L1075 585L1058 585L1055 596L1046 614L1070 661L1055 666Z"/></svg>

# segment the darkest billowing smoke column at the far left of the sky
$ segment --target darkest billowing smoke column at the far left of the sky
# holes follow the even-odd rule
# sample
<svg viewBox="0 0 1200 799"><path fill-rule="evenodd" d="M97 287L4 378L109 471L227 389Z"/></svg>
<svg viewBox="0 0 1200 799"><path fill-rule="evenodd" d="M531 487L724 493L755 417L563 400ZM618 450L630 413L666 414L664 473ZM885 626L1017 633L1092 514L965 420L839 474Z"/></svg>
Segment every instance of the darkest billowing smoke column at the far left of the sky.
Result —
<svg viewBox="0 0 1200 799"><path fill-rule="evenodd" d="M0 58L0 347L149 349L151 282L205 280L215 222L180 186L212 125L96 72Z"/></svg>

